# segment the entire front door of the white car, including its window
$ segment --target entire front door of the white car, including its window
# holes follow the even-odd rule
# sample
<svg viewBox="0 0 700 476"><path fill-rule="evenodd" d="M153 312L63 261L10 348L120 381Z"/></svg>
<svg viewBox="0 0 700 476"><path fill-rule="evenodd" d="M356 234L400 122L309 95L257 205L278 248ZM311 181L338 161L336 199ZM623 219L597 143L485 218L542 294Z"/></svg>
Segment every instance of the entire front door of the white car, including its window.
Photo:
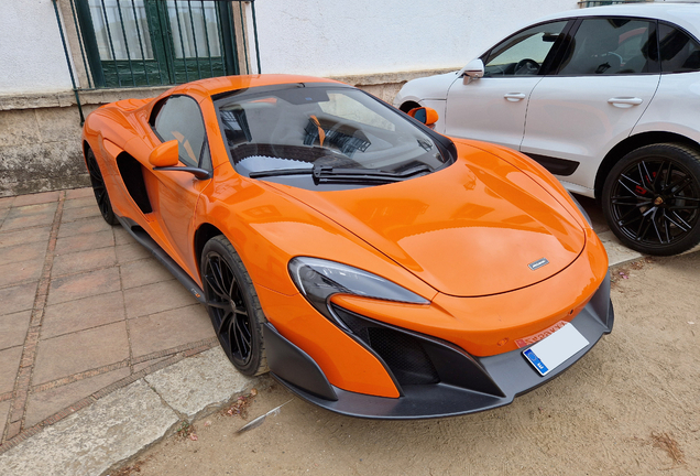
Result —
<svg viewBox="0 0 700 476"><path fill-rule="evenodd" d="M567 21L523 30L484 55L484 76L456 80L447 94L446 134L517 149L529 95L547 72Z"/></svg>

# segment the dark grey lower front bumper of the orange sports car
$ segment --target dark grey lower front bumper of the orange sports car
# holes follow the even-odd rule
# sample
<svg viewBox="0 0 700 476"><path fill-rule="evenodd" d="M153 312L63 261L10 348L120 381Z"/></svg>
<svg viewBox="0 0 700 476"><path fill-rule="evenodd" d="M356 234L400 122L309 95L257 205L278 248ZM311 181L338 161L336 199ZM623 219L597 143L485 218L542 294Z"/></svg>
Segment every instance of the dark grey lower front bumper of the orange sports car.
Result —
<svg viewBox="0 0 700 476"><path fill-rule="evenodd" d="M544 377L522 355L526 347L495 356L473 357L429 336L418 337L439 378L422 385L397 382L398 398L356 393L335 387L304 350L280 335L271 324L265 324L263 334L271 374L293 393L349 416L408 420L453 416L508 404L518 394L548 382L571 367L603 334L610 334L613 321L608 277L571 321L589 345ZM411 337L415 339L416 334Z"/></svg>

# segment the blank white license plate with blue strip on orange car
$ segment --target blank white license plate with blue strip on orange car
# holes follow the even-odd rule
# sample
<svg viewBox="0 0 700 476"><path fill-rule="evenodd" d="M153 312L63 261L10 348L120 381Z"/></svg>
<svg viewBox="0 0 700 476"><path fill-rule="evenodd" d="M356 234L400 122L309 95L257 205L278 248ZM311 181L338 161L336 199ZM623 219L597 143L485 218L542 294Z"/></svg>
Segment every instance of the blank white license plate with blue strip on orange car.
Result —
<svg viewBox="0 0 700 476"><path fill-rule="evenodd" d="M587 345L586 337L573 324L567 323L559 331L523 350L523 355L539 375L546 376Z"/></svg>

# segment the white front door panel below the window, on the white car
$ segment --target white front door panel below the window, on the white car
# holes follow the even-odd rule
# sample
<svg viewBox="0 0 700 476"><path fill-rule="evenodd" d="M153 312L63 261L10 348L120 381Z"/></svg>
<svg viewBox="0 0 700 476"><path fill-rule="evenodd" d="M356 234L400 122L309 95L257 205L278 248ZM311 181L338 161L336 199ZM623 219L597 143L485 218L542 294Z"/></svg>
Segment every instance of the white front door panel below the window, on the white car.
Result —
<svg viewBox="0 0 700 476"><path fill-rule="evenodd" d="M517 150L531 93L542 76L481 78L452 84L447 94L446 134Z"/></svg>

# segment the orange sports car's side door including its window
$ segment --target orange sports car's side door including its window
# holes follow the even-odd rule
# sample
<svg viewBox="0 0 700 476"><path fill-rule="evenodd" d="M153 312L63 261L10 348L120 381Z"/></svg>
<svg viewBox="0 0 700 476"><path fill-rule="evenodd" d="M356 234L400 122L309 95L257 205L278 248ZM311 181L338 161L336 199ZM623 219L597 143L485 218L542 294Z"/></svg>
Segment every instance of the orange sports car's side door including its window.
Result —
<svg viewBox="0 0 700 476"><path fill-rule="evenodd" d="M160 110L158 110L160 107ZM211 158L199 105L189 96L171 96L154 108L153 130L163 142L177 140L179 161L211 171ZM181 267L197 270L192 237L199 195L211 182L179 171L152 171L157 190L150 191L155 219L165 239L181 258Z"/></svg>

